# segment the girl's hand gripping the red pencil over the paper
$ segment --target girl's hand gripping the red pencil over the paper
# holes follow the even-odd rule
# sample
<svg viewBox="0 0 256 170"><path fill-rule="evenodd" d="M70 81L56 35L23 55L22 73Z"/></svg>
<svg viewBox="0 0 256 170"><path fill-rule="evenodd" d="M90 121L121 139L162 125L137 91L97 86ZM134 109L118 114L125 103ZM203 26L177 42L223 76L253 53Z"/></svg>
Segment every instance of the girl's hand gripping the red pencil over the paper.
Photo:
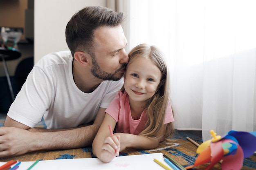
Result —
<svg viewBox="0 0 256 170"><path fill-rule="evenodd" d="M104 163L110 162L114 157L119 156L120 136L107 137L101 147L100 158Z"/></svg>

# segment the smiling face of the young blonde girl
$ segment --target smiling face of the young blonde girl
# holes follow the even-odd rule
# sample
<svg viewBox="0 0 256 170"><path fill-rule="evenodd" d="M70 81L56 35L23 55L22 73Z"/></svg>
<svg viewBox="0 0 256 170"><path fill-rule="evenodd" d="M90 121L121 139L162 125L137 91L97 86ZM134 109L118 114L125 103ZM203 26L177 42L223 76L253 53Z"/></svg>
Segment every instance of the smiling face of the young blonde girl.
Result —
<svg viewBox="0 0 256 170"><path fill-rule="evenodd" d="M149 58L137 57L126 68L124 88L130 100L146 102L155 95L161 78L161 71Z"/></svg>

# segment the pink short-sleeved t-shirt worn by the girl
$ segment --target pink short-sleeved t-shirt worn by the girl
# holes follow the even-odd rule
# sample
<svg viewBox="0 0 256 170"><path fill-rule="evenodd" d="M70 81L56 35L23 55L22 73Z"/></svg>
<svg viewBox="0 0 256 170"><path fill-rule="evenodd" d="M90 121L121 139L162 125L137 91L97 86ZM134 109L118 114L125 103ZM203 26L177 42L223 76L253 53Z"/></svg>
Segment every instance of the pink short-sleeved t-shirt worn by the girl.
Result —
<svg viewBox="0 0 256 170"><path fill-rule="evenodd" d="M119 91L115 99L113 99L105 112L113 117L115 121L117 121L115 132L138 135L141 131L145 129L145 124L147 121L146 111L143 111L138 120L132 119L130 113L129 96L126 92L122 93L121 91ZM164 124L168 124L173 121L174 119L171 109L171 102L170 100L168 100Z"/></svg>

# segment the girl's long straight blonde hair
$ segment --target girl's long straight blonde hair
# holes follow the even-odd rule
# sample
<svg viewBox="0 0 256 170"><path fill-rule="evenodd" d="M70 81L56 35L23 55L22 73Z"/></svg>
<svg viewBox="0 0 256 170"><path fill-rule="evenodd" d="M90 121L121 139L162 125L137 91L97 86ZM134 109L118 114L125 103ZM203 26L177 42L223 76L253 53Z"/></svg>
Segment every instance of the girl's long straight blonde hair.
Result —
<svg viewBox="0 0 256 170"><path fill-rule="evenodd" d="M156 46L139 44L130 51L128 56L129 62L127 66L129 66L129 64L137 57L147 57L162 73L157 92L153 97L148 99L144 106L148 114L148 120L145 125L145 130L140 132L139 135L167 140L174 132L174 126L172 122L164 124L165 111L170 93L168 68L166 66L166 61L164 60L164 55ZM124 93L124 85L121 88L121 91Z"/></svg>

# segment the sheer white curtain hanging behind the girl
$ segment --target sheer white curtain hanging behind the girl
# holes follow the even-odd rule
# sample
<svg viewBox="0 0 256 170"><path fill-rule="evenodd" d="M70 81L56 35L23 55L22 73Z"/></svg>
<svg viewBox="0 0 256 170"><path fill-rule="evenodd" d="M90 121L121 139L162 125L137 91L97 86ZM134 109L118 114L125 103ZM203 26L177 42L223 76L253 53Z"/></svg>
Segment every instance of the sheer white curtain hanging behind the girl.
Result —
<svg viewBox="0 0 256 170"><path fill-rule="evenodd" d="M123 2L127 51L148 43L166 55L175 128L204 141L256 130L255 0Z"/></svg>

